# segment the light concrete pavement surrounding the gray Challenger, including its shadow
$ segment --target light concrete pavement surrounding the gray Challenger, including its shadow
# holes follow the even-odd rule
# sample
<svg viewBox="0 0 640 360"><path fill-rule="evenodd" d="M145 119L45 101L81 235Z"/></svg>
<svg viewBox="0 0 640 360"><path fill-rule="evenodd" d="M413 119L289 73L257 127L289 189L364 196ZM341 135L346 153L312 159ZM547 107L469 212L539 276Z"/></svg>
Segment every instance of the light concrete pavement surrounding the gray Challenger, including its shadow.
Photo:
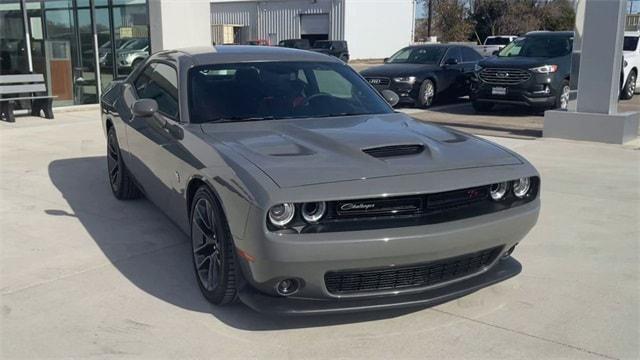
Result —
<svg viewBox="0 0 640 360"><path fill-rule="evenodd" d="M640 357L640 151L491 140L542 174L520 275L433 308L279 318L209 305L187 237L113 198L96 110L0 124L0 357Z"/></svg>

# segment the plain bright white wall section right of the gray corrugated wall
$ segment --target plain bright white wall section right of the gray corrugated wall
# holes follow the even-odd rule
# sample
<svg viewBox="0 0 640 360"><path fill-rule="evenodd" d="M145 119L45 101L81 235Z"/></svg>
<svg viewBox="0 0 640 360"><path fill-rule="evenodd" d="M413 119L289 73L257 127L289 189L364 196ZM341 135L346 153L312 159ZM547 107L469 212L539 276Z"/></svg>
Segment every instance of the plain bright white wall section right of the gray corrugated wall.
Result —
<svg viewBox="0 0 640 360"><path fill-rule="evenodd" d="M413 0L346 0L351 59L382 59L410 45L414 10Z"/></svg>

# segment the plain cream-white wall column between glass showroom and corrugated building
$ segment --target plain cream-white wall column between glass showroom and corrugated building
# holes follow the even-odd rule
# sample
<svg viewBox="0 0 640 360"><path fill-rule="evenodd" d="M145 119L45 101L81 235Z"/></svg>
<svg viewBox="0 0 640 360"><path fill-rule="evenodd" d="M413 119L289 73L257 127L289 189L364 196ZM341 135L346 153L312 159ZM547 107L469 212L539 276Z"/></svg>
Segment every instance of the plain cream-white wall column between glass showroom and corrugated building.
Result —
<svg viewBox="0 0 640 360"><path fill-rule="evenodd" d="M151 52L211 46L209 0L149 0Z"/></svg>

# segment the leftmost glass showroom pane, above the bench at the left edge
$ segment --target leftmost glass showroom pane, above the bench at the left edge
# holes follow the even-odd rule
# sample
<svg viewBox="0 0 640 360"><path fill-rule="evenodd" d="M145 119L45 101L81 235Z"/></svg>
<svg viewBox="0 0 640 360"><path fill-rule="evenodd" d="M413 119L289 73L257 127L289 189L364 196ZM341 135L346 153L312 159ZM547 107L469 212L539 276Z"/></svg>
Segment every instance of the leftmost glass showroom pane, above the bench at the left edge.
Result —
<svg viewBox="0 0 640 360"><path fill-rule="evenodd" d="M29 71L20 1L0 2L0 74Z"/></svg>

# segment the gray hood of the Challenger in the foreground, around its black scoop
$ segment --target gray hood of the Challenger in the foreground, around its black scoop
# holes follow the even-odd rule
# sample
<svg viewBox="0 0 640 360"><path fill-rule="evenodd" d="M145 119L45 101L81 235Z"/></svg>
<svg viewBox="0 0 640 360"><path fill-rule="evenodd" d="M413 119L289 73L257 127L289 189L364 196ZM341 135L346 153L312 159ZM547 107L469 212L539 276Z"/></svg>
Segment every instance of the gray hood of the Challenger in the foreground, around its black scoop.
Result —
<svg viewBox="0 0 640 360"><path fill-rule="evenodd" d="M279 187L521 164L488 141L404 114L203 124L212 145L242 155ZM423 151L374 157L363 149L418 145Z"/></svg>

